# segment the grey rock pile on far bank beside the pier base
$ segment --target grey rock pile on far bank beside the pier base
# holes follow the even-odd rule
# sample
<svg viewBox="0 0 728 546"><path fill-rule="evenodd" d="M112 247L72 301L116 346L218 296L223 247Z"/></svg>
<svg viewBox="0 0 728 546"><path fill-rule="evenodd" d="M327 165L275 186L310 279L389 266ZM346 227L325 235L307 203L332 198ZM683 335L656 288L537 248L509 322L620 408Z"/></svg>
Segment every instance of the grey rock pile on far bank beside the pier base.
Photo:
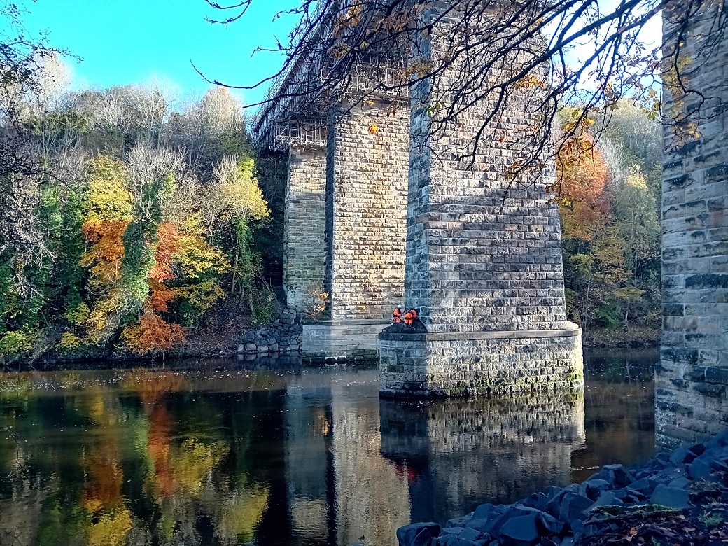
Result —
<svg viewBox="0 0 728 546"><path fill-rule="evenodd" d="M301 350L301 323L304 315L295 309L283 309L278 319L270 324L249 331L237 347L239 355L269 355Z"/></svg>

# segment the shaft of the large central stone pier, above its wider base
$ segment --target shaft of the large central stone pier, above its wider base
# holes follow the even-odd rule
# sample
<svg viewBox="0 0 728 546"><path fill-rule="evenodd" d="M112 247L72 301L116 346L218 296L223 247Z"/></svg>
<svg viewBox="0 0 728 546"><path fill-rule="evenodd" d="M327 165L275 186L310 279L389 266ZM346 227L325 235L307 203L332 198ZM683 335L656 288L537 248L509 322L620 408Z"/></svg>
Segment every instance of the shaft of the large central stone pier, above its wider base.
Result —
<svg viewBox="0 0 728 546"><path fill-rule="evenodd" d="M430 332L563 328L561 228L547 191L555 166L505 179L505 167L524 159L513 140L533 135L538 96L513 91L474 156L461 159L492 103L428 135L433 97L449 102L437 87L424 81L412 97L407 305Z"/></svg>

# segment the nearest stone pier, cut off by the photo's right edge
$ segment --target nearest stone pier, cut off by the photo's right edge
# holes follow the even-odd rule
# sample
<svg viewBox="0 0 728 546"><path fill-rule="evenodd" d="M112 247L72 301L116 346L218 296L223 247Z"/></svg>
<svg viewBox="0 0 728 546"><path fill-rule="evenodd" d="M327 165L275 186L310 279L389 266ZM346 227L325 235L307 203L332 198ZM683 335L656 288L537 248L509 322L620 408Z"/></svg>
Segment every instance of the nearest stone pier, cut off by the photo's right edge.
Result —
<svg viewBox="0 0 728 546"><path fill-rule="evenodd" d="M675 446L728 425L728 40L708 52L713 9L682 36L681 76L707 99L683 124L699 138L665 127L662 179L662 352L656 372L657 442ZM676 36L665 20L666 55ZM684 61L683 61L684 60ZM665 112L696 111L697 93L670 94Z"/></svg>

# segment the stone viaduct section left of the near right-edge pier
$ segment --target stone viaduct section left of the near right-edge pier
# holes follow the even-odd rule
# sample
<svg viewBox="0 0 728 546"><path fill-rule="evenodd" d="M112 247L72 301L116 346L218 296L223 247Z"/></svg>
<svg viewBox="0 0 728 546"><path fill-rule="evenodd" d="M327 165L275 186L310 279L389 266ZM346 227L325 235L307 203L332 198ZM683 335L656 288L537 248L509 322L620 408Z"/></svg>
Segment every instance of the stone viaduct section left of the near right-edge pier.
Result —
<svg viewBox="0 0 728 546"><path fill-rule="evenodd" d="M383 395L580 388L581 331L566 320L558 208L547 192L553 165L506 193L500 167L513 151L483 143L472 167L440 153L472 138L486 105L433 138L427 107L438 90L428 79L403 97L301 106L325 66L290 63L253 125L258 146L288 154L288 304L328 293L325 319L304 325L304 359L379 354ZM366 81L395 69L380 58L360 71ZM527 100L506 108L507 131L539 114ZM427 332L382 332L397 305L419 309Z"/></svg>

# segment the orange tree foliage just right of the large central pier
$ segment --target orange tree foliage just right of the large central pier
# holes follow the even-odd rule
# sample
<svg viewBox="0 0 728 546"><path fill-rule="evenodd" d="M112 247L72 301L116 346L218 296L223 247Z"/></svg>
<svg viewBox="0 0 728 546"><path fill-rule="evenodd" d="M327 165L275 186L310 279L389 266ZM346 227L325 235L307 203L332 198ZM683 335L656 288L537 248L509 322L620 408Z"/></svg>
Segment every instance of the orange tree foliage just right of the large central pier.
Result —
<svg viewBox="0 0 728 546"><path fill-rule="evenodd" d="M584 135L578 142L572 139L563 146L556 167L563 237L593 240L609 219L609 199L604 191L609 169L604 156Z"/></svg>

